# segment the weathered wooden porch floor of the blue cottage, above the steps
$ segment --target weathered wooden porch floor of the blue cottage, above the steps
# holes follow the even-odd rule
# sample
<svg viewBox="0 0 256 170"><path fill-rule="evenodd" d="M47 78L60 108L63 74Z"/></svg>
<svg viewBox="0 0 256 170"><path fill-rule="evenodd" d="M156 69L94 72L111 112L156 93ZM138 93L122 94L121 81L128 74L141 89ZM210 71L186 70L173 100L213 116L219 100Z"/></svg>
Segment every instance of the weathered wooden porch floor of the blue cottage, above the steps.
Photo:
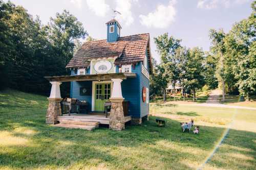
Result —
<svg viewBox="0 0 256 170"><path fill-rule="evenodd" d="M132 119L132 116L125 116L125 122L129 122ZM106 117L105 114L91 113L91 114L63 114L58 116L57 120L74 120L82 122L99 122L100 124L109 125L110 118Z"/></svg>

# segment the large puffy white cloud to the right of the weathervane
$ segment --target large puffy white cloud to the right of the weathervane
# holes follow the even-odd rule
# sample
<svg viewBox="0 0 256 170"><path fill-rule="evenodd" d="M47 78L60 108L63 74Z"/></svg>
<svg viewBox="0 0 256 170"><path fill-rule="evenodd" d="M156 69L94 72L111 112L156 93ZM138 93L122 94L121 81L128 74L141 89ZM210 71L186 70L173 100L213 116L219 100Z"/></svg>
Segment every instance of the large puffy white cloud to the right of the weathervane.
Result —
<svg viewBox="0 0 256 170"><path fill-rule="evenodd" d="M169 1L168 6L158 5L154 12L140 15L140 23L146 27L167 28L176 16L176 0Z"/></svg>

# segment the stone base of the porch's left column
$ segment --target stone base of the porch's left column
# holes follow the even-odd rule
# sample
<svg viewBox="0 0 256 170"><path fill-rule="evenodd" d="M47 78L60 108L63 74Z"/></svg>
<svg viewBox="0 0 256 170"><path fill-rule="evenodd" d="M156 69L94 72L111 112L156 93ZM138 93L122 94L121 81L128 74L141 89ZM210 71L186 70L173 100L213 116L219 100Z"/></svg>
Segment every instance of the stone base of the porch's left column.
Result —
<svg viewBox="0 0 256 170"><path fill-rule="evenodd" d="M46 124L57 124L57 116L61 115L60 101L62 98L48 98L48 100Z"/></svg>

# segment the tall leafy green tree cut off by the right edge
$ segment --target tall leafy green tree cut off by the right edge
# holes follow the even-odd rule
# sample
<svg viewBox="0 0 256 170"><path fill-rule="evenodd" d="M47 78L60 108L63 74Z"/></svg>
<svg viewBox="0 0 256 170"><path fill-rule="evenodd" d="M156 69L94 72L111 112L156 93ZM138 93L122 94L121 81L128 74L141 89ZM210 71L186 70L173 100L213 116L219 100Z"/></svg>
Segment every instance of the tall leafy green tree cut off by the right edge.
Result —
<svg viewBox="0 0 256 170"><path fill-rule="evenodd" d="M225 38L225 46L232 57L234 78L240 94L249 100L250 94L256 92L256 2L251 4L252 13L247 19L236 23L229 36Z"/></svg>

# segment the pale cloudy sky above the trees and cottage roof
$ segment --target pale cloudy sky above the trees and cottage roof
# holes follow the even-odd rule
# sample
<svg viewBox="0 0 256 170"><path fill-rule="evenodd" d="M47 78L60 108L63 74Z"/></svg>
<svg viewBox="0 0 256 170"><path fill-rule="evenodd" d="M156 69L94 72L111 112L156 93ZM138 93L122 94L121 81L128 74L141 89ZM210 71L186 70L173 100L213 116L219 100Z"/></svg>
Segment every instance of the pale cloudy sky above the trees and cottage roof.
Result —
<svg viewBox="0 0 256 170"><path fill-rule="evenodd" d="M5 0L7 2L7 0ZM121 36L150 33L151 54L158 62L154 37L168 33L182 39L181 45L202 47L208 51L210 29L228 32L235 22L247 18L253 0L13 0L47 24L56 13L68 10L75 15L90 36L106 39L105 22L113 18L122 27Z"/></svg>

